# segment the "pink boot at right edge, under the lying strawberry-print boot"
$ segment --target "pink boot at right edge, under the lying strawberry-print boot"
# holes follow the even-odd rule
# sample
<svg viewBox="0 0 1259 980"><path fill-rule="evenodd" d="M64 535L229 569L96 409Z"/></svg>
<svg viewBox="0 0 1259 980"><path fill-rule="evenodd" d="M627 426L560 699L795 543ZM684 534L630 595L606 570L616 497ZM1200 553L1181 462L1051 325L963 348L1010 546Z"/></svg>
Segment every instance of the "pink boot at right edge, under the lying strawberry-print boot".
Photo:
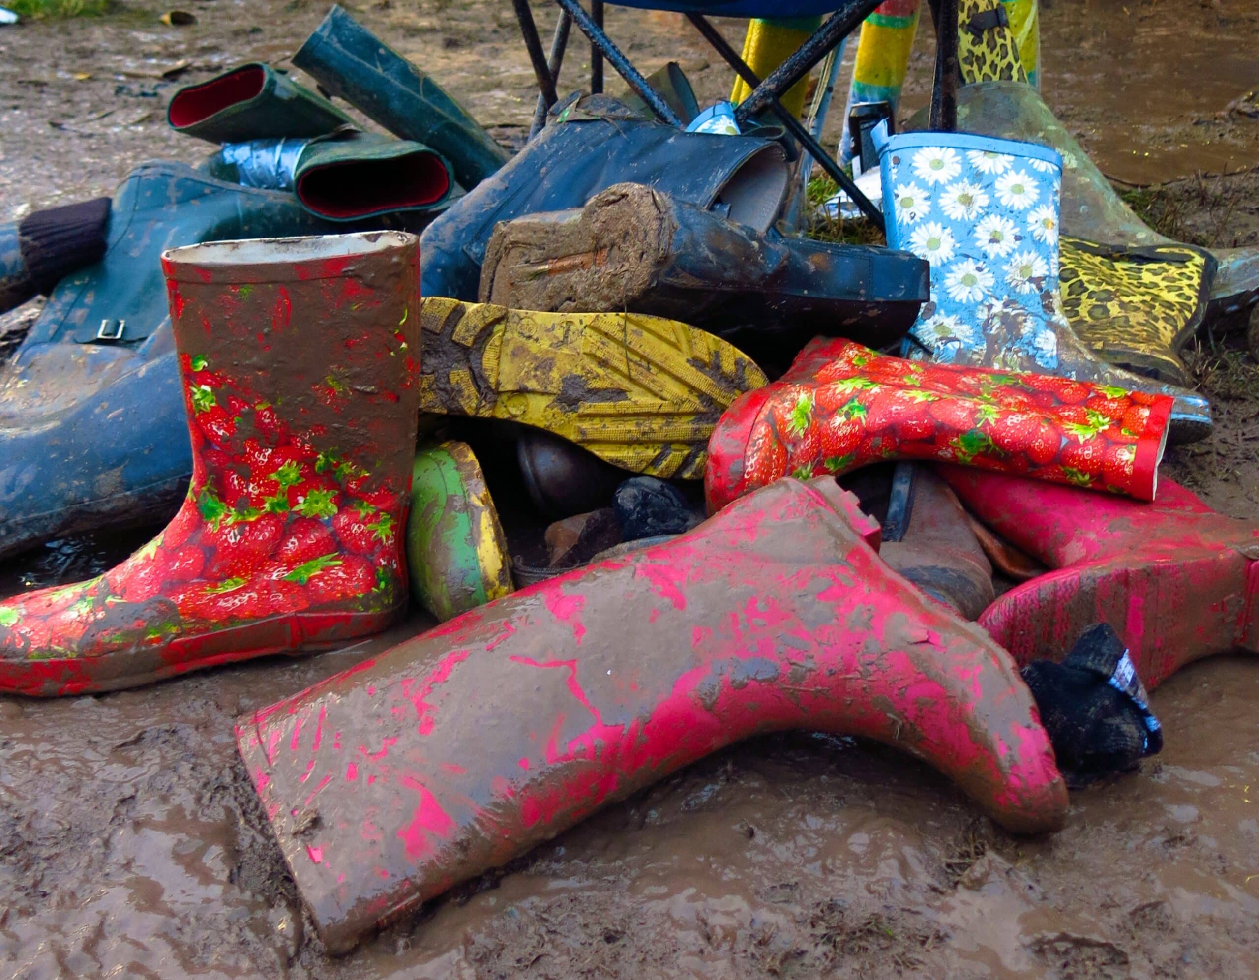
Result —
<svg viewBox="0 0 1259 980"><path fill-rule="evenodd" d="M1153 503L940 467L967 507L1054 569L980 616L1020 663L1059 660L1109 623L1155 688L1214 653L1259 653L1259 525L1216 513L1168 479Z"/></svg>

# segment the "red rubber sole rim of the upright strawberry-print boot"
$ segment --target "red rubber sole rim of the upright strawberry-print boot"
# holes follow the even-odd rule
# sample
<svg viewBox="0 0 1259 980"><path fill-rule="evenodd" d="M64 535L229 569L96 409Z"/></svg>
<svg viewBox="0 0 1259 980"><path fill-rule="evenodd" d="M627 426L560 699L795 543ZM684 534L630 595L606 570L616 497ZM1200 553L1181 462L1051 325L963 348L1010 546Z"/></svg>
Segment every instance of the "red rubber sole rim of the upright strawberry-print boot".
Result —
<svg viewBox="0 0 1259 980"><path fill-rule="evenodd" d="M98 694L258 657L319 653L388 629L404 609L399 605L385 613L298 613L103 657L0 663L0 692L30 697Z"/></svg>

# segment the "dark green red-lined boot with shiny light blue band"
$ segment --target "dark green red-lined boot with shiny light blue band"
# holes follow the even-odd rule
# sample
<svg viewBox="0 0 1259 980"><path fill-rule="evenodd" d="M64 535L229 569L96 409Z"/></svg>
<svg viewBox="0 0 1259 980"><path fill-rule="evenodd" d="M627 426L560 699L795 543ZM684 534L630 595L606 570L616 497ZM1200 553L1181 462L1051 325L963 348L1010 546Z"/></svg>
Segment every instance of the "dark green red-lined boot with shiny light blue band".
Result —
<svg viewBox="0 0 1259 980"><path fill-rule="evenodd" d="M307 211L330 221L432 214L462 192L447 162L427 146L358 131L227 143L205 166L219 180L296 191Z"/></svg>

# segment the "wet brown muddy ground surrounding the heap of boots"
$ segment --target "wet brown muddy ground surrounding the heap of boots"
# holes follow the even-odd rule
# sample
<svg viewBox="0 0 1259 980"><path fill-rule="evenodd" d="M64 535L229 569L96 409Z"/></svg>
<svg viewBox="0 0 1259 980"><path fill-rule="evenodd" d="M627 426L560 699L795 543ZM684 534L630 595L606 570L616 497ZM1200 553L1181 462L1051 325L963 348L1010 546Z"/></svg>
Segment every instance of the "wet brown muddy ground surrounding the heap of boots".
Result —
<svg viewBox="0 0 1259 980"><path fill-rule="evenodd" d="M208 147L162 126L176 83L161 73L186 62L181 83L282 58L325 9L189 3L199 23L184 29L138 0L99 20L0 29L0 219L110 192L145 159L195 161ZM355 13L519 143L533 97L505 0L383 0ZM1044 20L1046 97L1103 169L1171 181L1133 195L1165 229L1259 242L1255 175L1195 175L1259 162L1248 96L1259 84L1259 0L1054 0ZM701 97L728 89L729 74L676 18L613 10L609 23L648 69L675 58ZM906 111L925 98L920 48ZM0 320L0 333L33 311ZM1259 371L1222 336L1204 338L1195 365L1219 425L1173 450L1166 472L1259 520ZM43 548L5 570L0 593L86 576L117 551L117 541ZM696 765L329 959L237 760L232 720L388 642L108 697L0 699L4 972L1259 974L1259 669L1234 657L1167 682L1153 696L1163 754L1073 794L1053 838L1003 834L891 750L783 736Z"/></svg>

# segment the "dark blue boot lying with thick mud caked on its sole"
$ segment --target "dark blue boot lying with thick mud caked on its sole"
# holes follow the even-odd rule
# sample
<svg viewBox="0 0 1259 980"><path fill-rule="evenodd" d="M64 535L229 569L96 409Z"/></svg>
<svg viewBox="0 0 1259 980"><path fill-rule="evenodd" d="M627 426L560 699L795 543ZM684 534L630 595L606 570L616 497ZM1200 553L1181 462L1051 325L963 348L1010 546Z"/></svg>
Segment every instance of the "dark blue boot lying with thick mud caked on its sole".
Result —
<svg viewBox="0 0 1259 980"><path fill-rule="evenodd" d="M758 235L655 187L617 184L584 208L500 224L480 299L681 320L762 360L816 333L894 343L929 297L928 272L908 252Z"/></svg>

